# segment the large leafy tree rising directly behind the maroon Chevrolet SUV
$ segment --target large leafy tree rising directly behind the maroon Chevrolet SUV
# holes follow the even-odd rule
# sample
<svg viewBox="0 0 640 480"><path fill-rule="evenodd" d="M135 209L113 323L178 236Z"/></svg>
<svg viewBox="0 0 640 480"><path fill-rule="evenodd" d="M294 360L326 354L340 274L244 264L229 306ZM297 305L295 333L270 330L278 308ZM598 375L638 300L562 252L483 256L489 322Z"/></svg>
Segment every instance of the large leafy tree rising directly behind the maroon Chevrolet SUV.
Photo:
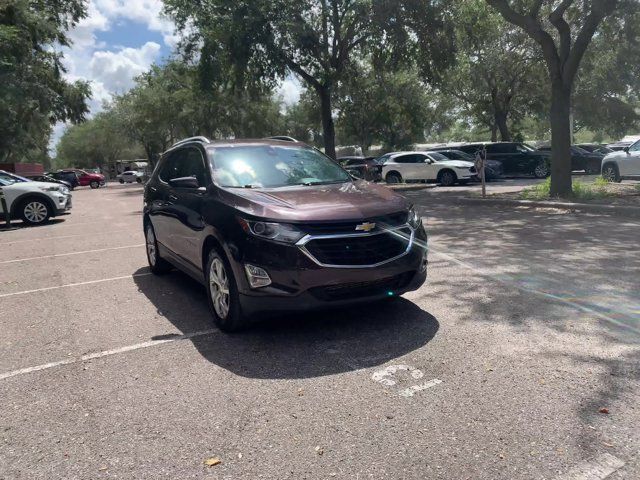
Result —
<svg viewBox="0 0 640 480"><path fill-rule="evenodd" d="M424 0L166 0L165 6L179 27L195 28L190 43L201 43L201 66L217 81L300 77L318 97L331 157L333 95L353 59L374 47L429 44L425 39L435 36L426 30L441 8Z"/></svg>

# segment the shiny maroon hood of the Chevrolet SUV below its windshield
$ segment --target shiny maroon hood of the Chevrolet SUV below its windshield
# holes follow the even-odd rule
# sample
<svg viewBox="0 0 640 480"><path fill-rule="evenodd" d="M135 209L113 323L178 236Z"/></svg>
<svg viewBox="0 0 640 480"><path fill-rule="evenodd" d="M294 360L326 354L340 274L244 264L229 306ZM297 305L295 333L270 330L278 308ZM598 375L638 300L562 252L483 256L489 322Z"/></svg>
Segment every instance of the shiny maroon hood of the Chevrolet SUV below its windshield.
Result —
<svg viewBox="0 0 640 480"><path fill-rule="evenodd" d="M285 222L360 220L408 210L393 190L365 181L274 189L221 189L228 205L254 217Z"/></svg>

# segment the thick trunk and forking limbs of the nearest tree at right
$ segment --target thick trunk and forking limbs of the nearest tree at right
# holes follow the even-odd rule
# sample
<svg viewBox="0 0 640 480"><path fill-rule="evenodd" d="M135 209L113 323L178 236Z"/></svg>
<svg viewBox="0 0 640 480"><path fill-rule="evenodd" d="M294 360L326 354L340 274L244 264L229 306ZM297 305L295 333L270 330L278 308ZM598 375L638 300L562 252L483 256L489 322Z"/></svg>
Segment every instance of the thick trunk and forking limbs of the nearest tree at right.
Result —
<svg viewBox="0 0 640 480"><path fill-rule="evenodd" d="M594 34L614 12L618 0L487 2L542 49L551 84L551 195L568 196L572 193L570 118L574 82Z"/></svg>

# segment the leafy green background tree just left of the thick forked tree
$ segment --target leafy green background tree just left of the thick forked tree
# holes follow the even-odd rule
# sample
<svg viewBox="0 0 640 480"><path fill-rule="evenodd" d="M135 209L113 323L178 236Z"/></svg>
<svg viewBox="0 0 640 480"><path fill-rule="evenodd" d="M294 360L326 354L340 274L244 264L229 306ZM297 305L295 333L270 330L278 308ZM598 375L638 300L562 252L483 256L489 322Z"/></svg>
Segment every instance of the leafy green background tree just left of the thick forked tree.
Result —
<svg viewBox="0 0 640 480"><path fill-rule="evenodd" d="M491 131L491 140L511 141L512 126L540 108L540 55L520 28L506 22L484 0L454 6L456 62L440 90L462 102L464 113Z"/></svg>

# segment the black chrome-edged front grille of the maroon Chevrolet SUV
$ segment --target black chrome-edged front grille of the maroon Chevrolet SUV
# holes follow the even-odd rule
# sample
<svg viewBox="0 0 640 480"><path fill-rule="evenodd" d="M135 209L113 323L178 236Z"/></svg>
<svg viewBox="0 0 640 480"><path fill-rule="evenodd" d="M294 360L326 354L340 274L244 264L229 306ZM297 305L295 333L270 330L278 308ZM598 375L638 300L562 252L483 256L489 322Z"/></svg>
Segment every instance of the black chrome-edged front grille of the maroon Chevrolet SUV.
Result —
<svg viewBox="0 0 640 480"><path fill-rule="evenodd" d="M411 243L411 229L401 228L375 235L316 238L304 245L322 265L376 265L399 257Z"/></svg>

